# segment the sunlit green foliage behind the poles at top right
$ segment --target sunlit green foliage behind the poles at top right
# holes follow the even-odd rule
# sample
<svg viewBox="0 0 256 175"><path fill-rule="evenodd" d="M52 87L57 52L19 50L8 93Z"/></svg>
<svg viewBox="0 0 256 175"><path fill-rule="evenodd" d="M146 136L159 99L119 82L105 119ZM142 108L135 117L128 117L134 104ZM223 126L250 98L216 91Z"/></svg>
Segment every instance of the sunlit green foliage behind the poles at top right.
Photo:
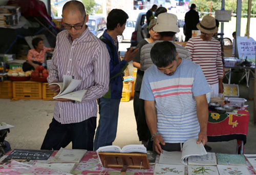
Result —
<svg viewBox="0 0 256 175"><path fill-rule="evenodd" d="M210 12L210 5L212 2L211 12L215 12L215 10L221 10L221 1L219 0L191 0L190 4L196 4L197 11L201 13L200 17L203 17L207 14L203 12ZM232 8L233 7L233 8ZM225 1L225 10L232 10L233 13L237 13L237 0L227 0ZM242 1L242 14L247 14L248 9L248 0ZM251 14L256 14L256 0L252 0L251 2ZM244 16L244 15L243 15Z"/></svg>

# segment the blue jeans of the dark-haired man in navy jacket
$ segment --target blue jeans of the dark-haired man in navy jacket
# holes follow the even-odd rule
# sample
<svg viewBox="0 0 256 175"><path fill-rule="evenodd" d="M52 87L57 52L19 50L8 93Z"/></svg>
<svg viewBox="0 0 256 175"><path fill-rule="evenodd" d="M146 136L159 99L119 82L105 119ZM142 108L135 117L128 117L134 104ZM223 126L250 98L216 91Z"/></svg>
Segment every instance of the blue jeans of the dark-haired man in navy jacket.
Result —
<svg viewBox="0 0 256 175"><path fill-rule="evenodd" d="M94 139L94 150L112 145L116 138L118 111L121 99L103 98L99 103L99 125Z"/></svg>

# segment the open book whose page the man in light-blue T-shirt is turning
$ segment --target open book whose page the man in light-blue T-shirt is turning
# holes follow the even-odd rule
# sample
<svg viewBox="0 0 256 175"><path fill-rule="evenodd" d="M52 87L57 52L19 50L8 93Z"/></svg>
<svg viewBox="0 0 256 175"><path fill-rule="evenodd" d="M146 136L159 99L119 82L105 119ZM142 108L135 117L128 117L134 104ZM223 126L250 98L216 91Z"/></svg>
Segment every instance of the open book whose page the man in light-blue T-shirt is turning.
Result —
<svg viewBox="0 0 256 175"><path fill-rule="evenodd" d="M160 155L160 164L172 165L198 165L198 162L205 165L216 165L216 159L207 161L207 152L202 143L197 144L197 139L188 139L183 143L181 152L168 152L164 151ZM195 156L189 159L189 157ZM197 157L196 157L197 156ZM210 157L212 157L210 155ZM201 161L203 159L203 161ZM189 161L190 160L190 161Z"/></svg>

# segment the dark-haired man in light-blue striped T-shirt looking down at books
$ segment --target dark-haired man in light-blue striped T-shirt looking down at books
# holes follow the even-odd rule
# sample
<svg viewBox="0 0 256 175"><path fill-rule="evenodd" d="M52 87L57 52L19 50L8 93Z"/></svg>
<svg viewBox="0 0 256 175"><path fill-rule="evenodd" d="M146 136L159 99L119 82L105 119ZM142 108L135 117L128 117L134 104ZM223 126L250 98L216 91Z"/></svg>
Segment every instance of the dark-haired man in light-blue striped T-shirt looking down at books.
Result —
<svg viewBox="0 0 256 175"><path fill-rule="evenodd" d="M172 42L156 43L151 50L153 65L142 80L140 98L155 151L181 151L186 140L207 142L210 92L199 65L180 58Z"/></svg>

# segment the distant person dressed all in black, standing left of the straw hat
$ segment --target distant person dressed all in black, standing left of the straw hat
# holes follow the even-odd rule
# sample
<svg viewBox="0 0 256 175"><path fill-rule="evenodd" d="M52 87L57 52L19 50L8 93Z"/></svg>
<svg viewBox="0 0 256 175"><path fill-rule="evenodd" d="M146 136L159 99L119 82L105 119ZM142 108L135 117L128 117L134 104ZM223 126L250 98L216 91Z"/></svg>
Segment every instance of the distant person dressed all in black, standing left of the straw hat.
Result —
<svg viewBox="0 0 256 175"><path fill-rule="evenodd" d="M192 36L192 30L198 30L197 24L199 23L199 14L196 11L196 5L191 4L190 10L185 15L185 41L188 41Z"/></svg>

